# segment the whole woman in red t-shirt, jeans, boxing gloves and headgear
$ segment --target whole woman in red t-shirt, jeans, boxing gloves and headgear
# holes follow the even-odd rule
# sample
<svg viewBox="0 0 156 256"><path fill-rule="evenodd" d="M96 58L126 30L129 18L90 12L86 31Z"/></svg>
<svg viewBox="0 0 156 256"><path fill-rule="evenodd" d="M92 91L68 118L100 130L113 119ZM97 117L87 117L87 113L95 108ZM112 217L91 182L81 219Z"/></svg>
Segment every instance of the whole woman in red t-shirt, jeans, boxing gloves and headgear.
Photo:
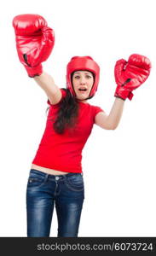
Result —
<svg viewBox="0 0 156 256"><path fill-rule="evenodd" d="M49 104L45 131L27 183L27 236L49 236L54 207L58 236L78 236L84 202L84 144L94 124L107 130L118 126L124 100L131 100L132 90L147 79L151 64L142 55L117 61L116 98L107 115L100 107L88 103L95 96L100 73L100 67L90 56L72 57L66 68L66 89L60 89L42 67L54 47L53 30L40 15L18 15L13 26L20 61L43 88Z"/></svg>

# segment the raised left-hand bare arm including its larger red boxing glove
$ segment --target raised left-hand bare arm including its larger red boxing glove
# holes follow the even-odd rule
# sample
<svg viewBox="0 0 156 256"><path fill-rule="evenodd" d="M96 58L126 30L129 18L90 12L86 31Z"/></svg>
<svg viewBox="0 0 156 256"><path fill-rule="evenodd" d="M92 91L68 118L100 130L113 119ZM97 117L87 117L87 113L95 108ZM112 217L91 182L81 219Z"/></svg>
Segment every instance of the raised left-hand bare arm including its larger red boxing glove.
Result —
<svg viewBox="0 0 156 256"><path fill-rule="evenodd" d="M42 62L46 61L55 44L55 33L40 15L17 15L13 20L16 49L20 62L29 77L47 94L49 101L56 104L61 99L61 90L54 79L43 72Z"/></svg>

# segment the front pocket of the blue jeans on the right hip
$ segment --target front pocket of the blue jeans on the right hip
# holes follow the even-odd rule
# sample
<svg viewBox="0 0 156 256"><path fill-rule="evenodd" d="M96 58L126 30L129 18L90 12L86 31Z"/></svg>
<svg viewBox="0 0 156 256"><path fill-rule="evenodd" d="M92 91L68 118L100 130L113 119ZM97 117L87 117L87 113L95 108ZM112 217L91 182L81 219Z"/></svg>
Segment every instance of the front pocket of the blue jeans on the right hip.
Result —
<svg viewBox="0 0 156 256"><path fill-rule="evenodd" d="M72 191L82 191L84 190L84 177L81 174L67 177L66 186Z"/></svg>

